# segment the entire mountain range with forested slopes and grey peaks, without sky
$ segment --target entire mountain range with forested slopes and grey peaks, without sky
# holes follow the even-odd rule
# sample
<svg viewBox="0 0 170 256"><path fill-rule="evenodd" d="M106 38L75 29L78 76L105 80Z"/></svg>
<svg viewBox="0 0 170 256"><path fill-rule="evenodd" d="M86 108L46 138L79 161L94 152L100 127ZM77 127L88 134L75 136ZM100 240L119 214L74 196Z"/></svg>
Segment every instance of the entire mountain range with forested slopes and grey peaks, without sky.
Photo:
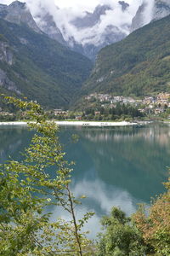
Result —
<svg viewBox="0 0 170 256"><path fill-rule="evenodd" d="M100 26L114 8L127 15L131 6L124 1L115 7L99 5L94 12L72 20L71 26L83 34L89 27ZM144 15L150 10L147 20ZM99 34L99 46L89 38L87 44L80 44L74 34L66 41L54 16L43 6L31 14L27 3L0 4L0 91L26 96L47 109L80 108L92 93L133 97L168 93L169 14L168 1L156 0L152 5L144 1L131 22L119 28L106 26L107 35Z"/></svg>

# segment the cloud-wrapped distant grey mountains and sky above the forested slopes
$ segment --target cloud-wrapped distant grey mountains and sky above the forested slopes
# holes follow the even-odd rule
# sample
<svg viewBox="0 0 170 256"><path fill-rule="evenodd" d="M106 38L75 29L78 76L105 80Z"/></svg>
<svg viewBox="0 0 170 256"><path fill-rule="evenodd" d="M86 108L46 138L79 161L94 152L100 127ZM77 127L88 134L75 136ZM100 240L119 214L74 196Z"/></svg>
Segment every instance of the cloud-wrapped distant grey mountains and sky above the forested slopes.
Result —
<svg viewBox="0 0 170 256"><path fill-rule="evenodd" d="M10 3L0 0L0 3ZM94 59L99 49L170 13L169 0L21 0L37 26L61 44Z"/></svg>

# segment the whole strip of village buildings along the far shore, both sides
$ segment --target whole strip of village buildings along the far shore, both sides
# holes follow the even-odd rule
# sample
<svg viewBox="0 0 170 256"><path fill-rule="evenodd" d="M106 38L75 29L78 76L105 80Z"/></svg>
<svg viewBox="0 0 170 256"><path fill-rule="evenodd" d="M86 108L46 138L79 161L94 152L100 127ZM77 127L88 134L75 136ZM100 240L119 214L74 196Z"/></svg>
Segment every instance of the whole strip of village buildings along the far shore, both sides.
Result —
<svg viewBox="0 0 170 256"><path fill-rule="evenodd" d="M161 113L165 113L170 109L170 93L163 92L156 96L144 96L143 98L133 98L132 96L113 96L111 94L98 94L93 93L84 97L85 108L77 109L73 112L71 110L63 109L51 109L46 111L50 118L55 119L86 119L88 117L89 109L93 109L94 116L102 114L99 108L102 109L116 109L118 105L129 106L129 108L137 109L139 113L144 116L155 115L159 116ZM127 107L128 108L128 107ZM88 113L88 114L86 114ZM91 112L90 112L91 113ZM13 120L16 118L15 113L9 113L0 108L1 119ZM18 116L19 117L19 116ZM22 113L20 119L25 118L25 114ZM167 116L170 118L170 115Z"/></svg>

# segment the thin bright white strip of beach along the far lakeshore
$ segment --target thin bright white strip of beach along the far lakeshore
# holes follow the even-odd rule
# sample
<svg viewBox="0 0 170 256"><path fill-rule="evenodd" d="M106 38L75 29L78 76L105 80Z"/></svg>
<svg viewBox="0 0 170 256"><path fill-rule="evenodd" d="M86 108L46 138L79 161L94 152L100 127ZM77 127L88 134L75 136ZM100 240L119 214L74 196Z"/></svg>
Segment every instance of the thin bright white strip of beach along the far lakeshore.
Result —
<svg viewBox="0 0 170 256"><path fill-rule="evenodd" d="M132 126L132 125L146 125L148 122L95 122L95 121L55 121L56 125L65 126L82 126L82 127L119 127L119 126ZM3 125L20 125L27 126L24 121L14 121L14 122L0 122L0 126Z"/></svg>

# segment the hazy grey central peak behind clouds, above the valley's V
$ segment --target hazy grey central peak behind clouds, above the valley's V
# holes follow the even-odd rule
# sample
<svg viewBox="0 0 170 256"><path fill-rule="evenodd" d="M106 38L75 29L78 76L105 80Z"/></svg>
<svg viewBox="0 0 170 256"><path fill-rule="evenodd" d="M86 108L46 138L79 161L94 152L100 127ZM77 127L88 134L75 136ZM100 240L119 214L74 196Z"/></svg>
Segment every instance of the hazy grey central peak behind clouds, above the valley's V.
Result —
<svg viewBox="0 0 170 256"><path fill-rule="evenodd" d="M77 42L74 37L71 37L68 42L71 49L94 60L99 49L125 38L126 34L111 23L105 25L105 29L99 30L107 11L112 10L113 8L108 4L99 4L94 9L94 12L85 12L83 17L77 17L75 20L72 20L71 24L77 28L77 32L87 31L87 34L85 32L81 42ZM95 34L93 31L95 31Z"/></svg>

